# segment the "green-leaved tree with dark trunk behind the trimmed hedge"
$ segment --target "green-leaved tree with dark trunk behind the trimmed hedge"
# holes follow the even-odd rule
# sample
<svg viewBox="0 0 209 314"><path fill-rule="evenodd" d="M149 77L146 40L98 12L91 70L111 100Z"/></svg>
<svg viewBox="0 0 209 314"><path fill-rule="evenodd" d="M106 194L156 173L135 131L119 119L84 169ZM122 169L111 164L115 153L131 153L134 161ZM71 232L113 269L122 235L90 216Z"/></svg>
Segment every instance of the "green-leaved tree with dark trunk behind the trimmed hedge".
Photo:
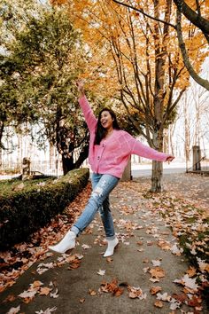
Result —
<svg viewBox="0 0 209 314"><path fill-rule="evenodd" d="M78 32L61 9L40 5L7 48L4 68L19 77L18 104L43 122L44 134L62 155L64 174L78 168L89 147L74 83L87 62Z"/></svg>

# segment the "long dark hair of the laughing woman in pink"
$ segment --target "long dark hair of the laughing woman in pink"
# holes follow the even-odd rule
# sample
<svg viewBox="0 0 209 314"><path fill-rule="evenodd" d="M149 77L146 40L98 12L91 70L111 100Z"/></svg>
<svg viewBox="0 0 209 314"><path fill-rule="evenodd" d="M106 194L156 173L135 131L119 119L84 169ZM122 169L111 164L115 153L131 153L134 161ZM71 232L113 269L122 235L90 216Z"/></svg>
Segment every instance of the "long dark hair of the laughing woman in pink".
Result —
<svg viewBox="0 0 209 314"><path fill-rule="evenodd" d="M108 111L112 116L112 128L115 130L120 130L119 123L117 122L116 114L112 111L112 109L104 107L100 113L98 114L97 120L97 130L96 130L96 137L95 137L95 145L99 145L101 140L106 136L107 130L105 130L101 124L101 115L104 111Z"/></svg>

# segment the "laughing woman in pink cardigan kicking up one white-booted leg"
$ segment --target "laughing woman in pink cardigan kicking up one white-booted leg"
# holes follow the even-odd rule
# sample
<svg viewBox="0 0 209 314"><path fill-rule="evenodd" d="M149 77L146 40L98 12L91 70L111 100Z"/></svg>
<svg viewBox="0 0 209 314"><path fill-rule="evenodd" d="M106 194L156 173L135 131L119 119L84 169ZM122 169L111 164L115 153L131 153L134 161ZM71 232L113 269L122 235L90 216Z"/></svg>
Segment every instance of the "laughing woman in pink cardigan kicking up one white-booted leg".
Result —
<svg viewBox="0 0 209 314"><path fill-rule="evenodd" d="M107 249L104 253L104 257L107 257L113 255L119 242L114 232L109 194L122 177L129 156L135 153L154 161L173 161L174 157L159 153L137 141L128 132L120 130L116 115L108 108L104 108L97 119L85 97L82 82L77 82L77 87L80 93L79 103L90 133L89 164L93 171L93 192L71 230L57 245L49 248L58 253L65 253L74 248L76 236L91 223L99 210L107 239Z"/></svg>

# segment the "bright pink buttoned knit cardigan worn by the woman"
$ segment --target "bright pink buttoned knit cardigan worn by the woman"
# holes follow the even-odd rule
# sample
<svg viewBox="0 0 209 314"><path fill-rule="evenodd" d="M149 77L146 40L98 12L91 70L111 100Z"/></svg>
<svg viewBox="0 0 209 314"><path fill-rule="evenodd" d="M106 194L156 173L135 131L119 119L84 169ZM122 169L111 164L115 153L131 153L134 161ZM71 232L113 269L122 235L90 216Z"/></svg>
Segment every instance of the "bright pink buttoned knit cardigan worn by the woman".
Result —
<svg viewBox="0 0 209 314"><path fill-rule="evenodd" d="M151 147L143 145L124 130L113 130L112 135L102 139L100 145L94 145L97 118L85 96L79 99L79 103L90 132L89 165L93 172L122 177L128 164L128 157L132 153L153 161L166 161L168 154L159 153Z"/></svg>

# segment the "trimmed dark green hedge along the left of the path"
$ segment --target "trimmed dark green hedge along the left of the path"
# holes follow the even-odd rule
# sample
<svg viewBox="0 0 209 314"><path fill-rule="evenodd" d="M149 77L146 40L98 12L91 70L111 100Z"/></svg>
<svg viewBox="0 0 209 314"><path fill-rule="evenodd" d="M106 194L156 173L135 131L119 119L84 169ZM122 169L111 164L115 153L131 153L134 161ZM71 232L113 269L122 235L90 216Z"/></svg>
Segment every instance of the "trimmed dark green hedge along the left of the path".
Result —
<svg viewBox="0 0 209 314"><path fill-rule="evenodd" d="M0 184L0 250L26 240L49 223L74 200L88 179L89 169L74 169L55 180L23 181L23 187L18 186L21 181Z"/></svg>

